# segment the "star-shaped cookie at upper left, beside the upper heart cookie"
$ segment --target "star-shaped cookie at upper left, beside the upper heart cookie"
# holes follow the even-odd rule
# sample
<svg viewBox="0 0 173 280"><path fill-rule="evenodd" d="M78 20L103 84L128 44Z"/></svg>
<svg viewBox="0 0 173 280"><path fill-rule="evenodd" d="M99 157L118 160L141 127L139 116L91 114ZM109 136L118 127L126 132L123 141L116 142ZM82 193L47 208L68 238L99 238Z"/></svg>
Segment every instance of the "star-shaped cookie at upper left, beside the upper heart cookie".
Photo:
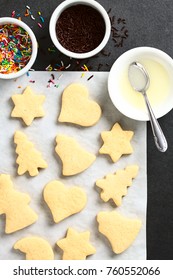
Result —
<svg viewBox="0 0 173 280"><path fill-rule="evenodd" d="M23 119L28 126L34 118L44 117L45 112L42 104L45 101L45 96L34 94L29 86L22 94L15 94L11 98L15 105L11 117Z"/></svg>

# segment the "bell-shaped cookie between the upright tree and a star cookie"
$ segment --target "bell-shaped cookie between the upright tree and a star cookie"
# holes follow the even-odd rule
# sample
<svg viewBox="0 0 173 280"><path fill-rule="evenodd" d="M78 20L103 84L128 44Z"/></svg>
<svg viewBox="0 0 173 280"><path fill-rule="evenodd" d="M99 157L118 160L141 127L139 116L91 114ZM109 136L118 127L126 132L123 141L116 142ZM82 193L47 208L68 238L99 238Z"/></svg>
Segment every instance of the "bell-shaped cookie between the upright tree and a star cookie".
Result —
<svg viewBox="0 0 173 280"><path fill-rule="evenodd" d="M64 176L75 175L84 171L96 159L95 155L83 149L72 137L58 135L56 143L55 151L62 161Z"/></svg>

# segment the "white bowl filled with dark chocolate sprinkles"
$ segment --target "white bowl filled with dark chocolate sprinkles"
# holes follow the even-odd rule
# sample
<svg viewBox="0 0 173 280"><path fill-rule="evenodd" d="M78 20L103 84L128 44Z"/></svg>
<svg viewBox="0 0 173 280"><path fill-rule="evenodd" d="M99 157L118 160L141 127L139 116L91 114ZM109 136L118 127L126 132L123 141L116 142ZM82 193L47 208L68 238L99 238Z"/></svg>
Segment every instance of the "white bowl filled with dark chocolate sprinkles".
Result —
<svg viewBox="0 0 173 280"><path fill-rule="evenodd" d="M111 24L106 10L95 0L65 0L53 12L49 32L60 52L84 59L105 47Z"/></svg>

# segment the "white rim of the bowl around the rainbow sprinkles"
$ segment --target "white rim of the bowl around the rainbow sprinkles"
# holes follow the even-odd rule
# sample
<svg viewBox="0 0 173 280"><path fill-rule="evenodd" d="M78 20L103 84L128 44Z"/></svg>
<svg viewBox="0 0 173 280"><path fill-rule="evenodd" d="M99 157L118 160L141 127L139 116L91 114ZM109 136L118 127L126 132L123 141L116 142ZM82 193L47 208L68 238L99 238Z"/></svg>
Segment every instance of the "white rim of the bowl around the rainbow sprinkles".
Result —
<svg viewBox="0 0 173 280"><path fill-rule="evenodd" d="M33 31L23 21L18 20L16 18L11 18L11 17L2 17L2 18L0 18L0 25L4 25L4 24L15 24L15 25L22 27L24 30L26 30L28 32L28 34L31 38L31 41L32 41L32 54L31 54L31 58L30 58L29 62L26 64L26 66L16 73L9 73L9 74L0 73L0 79L15 79L15 78L22 76L26 72L28 72L29 69L34 64L35 59L37 57L38 44L37 44L37 40L36 40L36 37L35 37Z"/></svg>

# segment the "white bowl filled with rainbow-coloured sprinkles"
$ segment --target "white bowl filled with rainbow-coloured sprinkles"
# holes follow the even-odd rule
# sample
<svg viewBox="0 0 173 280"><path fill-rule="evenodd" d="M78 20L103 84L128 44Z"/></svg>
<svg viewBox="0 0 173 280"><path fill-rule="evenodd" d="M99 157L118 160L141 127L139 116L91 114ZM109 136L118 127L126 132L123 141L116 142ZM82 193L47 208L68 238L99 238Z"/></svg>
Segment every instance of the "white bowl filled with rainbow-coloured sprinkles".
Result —
<svg viewBox="0 0 173 280"><path fill-rule="evenodd" d="M32 67L37 56L37 40L24 22L0 18L0 79L15 79Z"/></svg>

